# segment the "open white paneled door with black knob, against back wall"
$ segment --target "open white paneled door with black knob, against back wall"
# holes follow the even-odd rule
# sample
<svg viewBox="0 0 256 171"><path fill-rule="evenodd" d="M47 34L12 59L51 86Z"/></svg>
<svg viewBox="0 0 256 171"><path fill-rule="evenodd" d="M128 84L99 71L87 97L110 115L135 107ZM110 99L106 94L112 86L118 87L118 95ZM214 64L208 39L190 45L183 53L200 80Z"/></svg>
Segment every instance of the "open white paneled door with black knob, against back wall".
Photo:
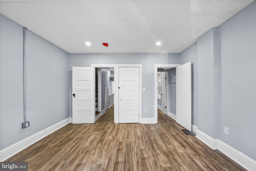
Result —
<svg viewBox="0 0 256 171"><path fill-rule="evenodd" d="M94 68L72 68L72 122L94 123Z"/></svg>

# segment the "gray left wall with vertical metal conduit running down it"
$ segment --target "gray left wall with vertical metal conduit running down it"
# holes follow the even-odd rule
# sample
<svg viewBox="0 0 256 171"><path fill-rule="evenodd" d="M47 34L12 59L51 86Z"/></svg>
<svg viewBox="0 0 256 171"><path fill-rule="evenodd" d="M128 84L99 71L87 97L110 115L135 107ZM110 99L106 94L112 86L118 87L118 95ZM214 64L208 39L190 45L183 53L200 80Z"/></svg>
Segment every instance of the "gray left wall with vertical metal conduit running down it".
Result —
<svg viewBox="0 0 256 171"><path fill-rule="evenodd" d="M27 30L23 118L23 27L0 14L0 149L69 117L69 54Z"/></svg>

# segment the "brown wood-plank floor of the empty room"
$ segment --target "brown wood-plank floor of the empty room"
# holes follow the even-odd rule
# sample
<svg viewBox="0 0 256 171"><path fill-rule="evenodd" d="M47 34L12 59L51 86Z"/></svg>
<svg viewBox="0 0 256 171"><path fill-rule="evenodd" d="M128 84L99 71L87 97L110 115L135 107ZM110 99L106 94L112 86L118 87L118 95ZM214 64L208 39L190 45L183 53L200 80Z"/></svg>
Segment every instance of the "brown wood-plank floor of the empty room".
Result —
<svg viewBox="0 0 256 171"><path fill-rule="evenodd" d="M68 124L6 161L31 171L245 170L158 112L157 124L114 124L111 107L94 124Z"/></svg>

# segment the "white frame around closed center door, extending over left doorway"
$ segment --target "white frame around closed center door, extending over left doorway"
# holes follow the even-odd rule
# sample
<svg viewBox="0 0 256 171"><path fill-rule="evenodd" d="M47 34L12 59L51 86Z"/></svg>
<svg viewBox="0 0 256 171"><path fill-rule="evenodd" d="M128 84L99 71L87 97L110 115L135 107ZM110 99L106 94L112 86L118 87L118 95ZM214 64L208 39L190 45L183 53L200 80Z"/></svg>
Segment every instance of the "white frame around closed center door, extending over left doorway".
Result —
<svg viewBox="0 0 256 171"><path fill-rule="evenodd" d="M95 68L114 68L114 123L119 123L119 67L139 68L139 123L142 123L142 64L91 64L91 67L94 67L94 70Z"/></svg>

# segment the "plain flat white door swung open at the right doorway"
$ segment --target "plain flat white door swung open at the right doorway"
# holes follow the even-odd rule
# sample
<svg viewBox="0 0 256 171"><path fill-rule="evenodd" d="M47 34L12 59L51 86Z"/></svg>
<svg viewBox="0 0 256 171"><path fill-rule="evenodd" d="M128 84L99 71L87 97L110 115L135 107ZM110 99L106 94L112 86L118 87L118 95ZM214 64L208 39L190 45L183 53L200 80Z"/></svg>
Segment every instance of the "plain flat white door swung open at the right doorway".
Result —
<svg viewBox="0 0 256 171"><path fill-rule="evenodd" d="M192 131L191 62L176 67L176 122Z"/></svg>

